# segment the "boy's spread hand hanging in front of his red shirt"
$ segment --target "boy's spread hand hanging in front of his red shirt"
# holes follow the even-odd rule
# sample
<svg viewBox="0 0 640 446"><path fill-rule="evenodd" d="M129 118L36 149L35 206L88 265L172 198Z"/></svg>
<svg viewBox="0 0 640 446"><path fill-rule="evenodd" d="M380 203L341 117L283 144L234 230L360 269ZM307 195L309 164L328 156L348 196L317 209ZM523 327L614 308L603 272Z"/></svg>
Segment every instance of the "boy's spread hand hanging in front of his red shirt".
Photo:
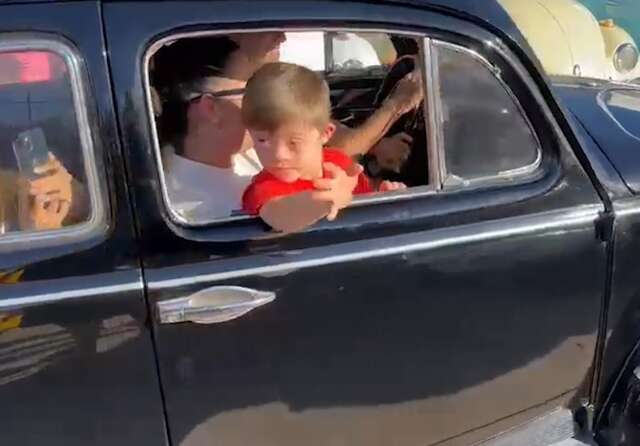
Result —
<svg viewBox="0 0 640 446"><path fill-rule="evenodd" d="M353 163L346 171L333 163L324 163L322 167L327 173L327 178L319 178L313 182L316 190L311 194L311 198L331 203L327 220L332 221L338 216L340 210L351 203L353 189L358 184L362 166Z"/></svg>

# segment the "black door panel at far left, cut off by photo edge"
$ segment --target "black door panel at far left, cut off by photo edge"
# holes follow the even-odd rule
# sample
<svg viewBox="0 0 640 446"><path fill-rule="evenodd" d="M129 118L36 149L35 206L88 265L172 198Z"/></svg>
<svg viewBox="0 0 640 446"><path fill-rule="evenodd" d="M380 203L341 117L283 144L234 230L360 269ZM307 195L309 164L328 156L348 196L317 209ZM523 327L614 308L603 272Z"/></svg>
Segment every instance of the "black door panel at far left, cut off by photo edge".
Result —
<svg viewBox="0 0 640 446"><path fill-rule="evenodd" d="M104 224L88 237L68 233L47 246L34 237L6 249L6 237L0 235L0 442L161 445L166 442L162 401L115 138L99 5L3 4L0 33L16 31L40 33L74 48L87 78L98 176L111 182L104 187L109 191L105 215L99 217ZM47 91L40 93L44 97ZM44 112L55 119L72 107L57 97L42 103L31 98L27 113L33 112L34 122L43 121ZM53 101L62 107L49 108ZM8 132L6 127L0 132L0 170L11 169L3 163L13 161L10 141L4 140ZM49 142L55 150L81 150L56 145L54 138ZM67 167L74 174L83 171L82 163ZM88 190L86 178L76 179Z"/></svg>

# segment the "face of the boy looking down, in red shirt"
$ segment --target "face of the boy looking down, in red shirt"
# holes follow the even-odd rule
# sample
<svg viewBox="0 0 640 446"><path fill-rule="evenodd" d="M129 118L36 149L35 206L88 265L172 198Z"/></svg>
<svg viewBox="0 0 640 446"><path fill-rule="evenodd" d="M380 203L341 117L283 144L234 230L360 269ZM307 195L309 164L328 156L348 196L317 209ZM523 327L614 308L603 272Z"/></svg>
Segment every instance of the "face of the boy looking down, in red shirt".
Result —
<svg viewBox="0 0 640 446"><path fill-rule="evenodd" d="M331 123L319 130L304 122L274 131L249 129L264 169L286 183L322 177L322 147L334 131Z"/></svg>

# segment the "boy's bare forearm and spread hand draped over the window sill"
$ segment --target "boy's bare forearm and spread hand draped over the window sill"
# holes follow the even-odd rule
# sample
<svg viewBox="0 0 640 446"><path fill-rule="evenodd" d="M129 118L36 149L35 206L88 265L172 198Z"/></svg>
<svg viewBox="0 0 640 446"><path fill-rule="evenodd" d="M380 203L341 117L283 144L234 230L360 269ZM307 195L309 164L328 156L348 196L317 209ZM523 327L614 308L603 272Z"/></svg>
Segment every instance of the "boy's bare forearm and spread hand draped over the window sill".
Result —
<svg viewBox="0 0 640 446"><path fill-rule="evenodd" d="M328 177L314 181L315 190L277 197L260 208L260 218L276 231L301 231L324 217L333 220L351 203L362 166L353 164L347 171L325 163Z"/></svg>

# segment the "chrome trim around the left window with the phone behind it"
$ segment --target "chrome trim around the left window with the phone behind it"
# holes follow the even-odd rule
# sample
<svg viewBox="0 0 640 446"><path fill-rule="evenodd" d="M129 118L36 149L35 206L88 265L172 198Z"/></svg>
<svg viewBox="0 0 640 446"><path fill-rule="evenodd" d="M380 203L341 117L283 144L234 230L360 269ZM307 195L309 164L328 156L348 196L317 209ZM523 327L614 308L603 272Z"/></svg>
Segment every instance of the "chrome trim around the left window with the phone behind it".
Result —
<svg viewBox="0 0 640 446"><path fill-rule="evenodd" d="M99 140L94 141L91 133L91 119L87 104L86 71L80 54L72 46L58 37L38 34L3 33L0 34L0 52L18 51L48 51L60 56L68 69L69 81L73 96L73 106L78 126L78 136L86 175L84 185L89 196L91 206L89 218L75 225L60 229L45 231L11 231L0 233L0 252L10 252L16 249L41 248L52 245L62 245L69 242L93 238L107 230L107 198L105 194L105 180L98 172Z"/></svg>

